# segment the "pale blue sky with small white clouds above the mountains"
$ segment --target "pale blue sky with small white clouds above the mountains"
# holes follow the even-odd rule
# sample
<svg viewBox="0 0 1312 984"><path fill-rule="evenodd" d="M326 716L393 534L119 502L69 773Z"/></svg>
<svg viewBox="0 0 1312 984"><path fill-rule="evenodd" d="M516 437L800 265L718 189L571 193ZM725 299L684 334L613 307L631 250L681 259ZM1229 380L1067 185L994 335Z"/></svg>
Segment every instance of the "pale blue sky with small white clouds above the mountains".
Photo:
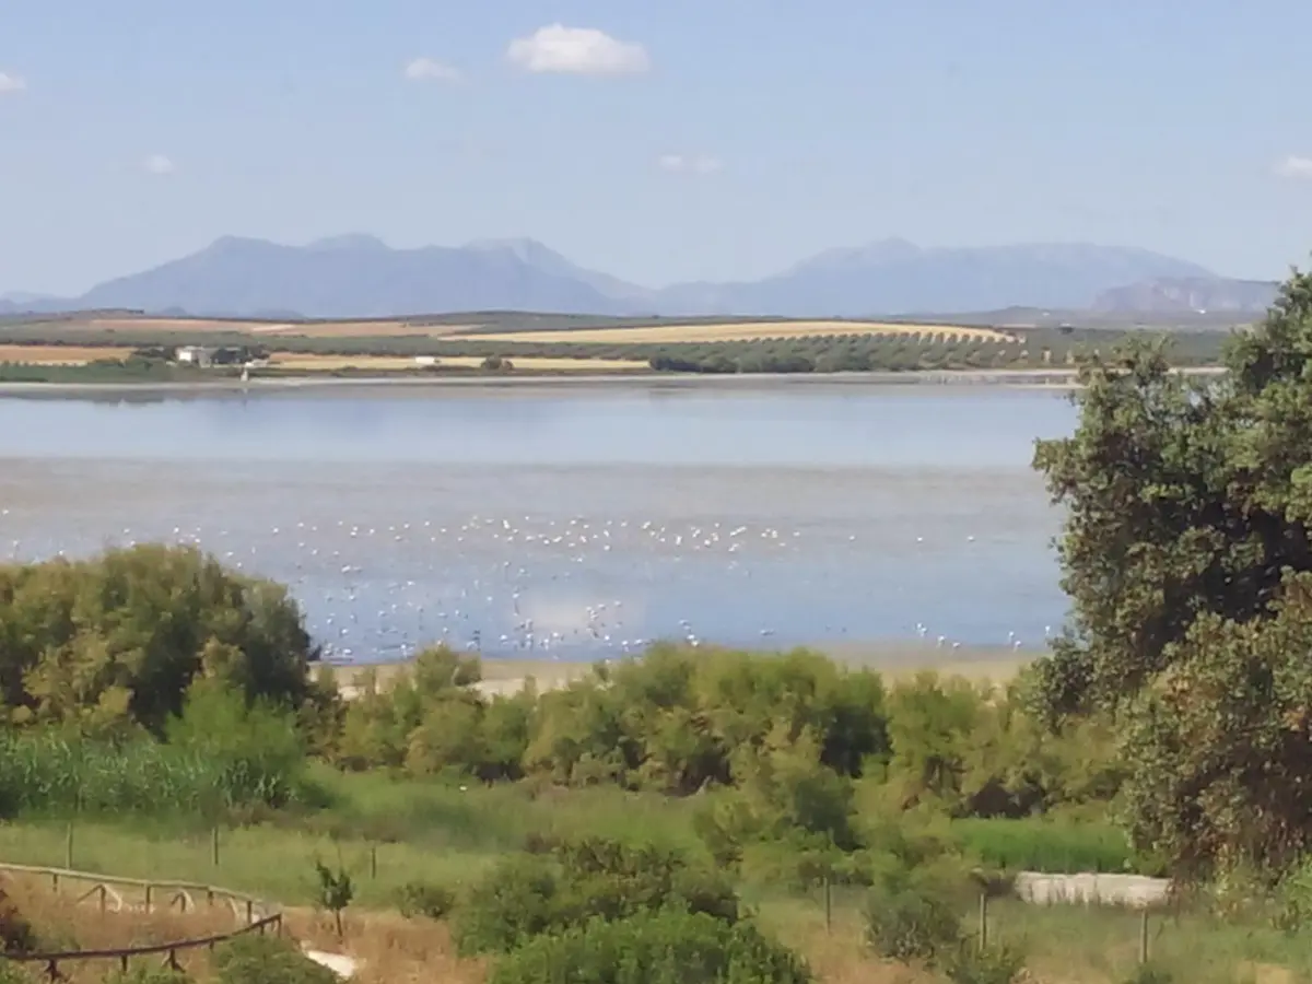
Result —
<svg viewBox="0 0 1312 984"><path fill-rule="evenodd" d="M0 0L0 291L226 234L531 236L653 286L887 236L1278 277L1312 251L1309 28L1307 0Z"/></svg>

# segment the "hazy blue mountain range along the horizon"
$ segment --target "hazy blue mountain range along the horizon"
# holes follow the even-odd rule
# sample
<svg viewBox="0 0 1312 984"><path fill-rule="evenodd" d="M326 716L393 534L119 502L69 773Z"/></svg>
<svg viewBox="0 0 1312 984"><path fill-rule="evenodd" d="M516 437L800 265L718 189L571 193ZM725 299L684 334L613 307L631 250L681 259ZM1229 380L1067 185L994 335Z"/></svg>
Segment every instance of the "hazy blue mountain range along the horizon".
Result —
<svg viewBox="0 0 1312 984"><path fill-rule="evenodd" d="M1275 286L1161 253L1090 244L829 249L758 281L652 289L589 270L533 239L394 249L367 235L308 245L224 236L76 298L9 294L0 315L135 310L241 318L386 318L459 311L862 318L1030 308L1261 311ZM1197 302L1197 303L1195 303Z"/></svg>

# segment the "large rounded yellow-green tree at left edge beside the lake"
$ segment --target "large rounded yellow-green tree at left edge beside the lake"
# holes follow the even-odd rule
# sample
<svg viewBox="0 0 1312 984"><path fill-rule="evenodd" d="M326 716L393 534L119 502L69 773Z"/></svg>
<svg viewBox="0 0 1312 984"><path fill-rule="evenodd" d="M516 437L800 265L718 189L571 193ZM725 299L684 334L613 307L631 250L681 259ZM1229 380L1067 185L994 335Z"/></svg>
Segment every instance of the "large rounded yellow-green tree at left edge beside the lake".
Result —
<svg viewBox="0 0 1312 984"><path fill-rule="evenodd" d="M192 547L0 567L0 698L20 723L161 733L198 676L299 706L315 656L285 588Z"/></svg>

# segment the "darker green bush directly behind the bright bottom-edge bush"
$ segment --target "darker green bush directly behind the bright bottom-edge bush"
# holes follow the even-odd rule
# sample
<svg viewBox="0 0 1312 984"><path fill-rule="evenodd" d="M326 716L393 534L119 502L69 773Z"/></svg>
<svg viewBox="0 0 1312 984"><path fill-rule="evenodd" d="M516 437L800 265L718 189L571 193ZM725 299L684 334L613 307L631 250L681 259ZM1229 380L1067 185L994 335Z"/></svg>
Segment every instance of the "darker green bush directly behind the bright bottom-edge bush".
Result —
<svg viewBox="0 0 1312 984"><path fill-rule="evenodd" d="M737 896L719 872L694 867L677 851L589 838L497 865L457 911L455 938L464 953L506 953L593 916L619 920L663 908L724 922L740 917Z"/></svg>

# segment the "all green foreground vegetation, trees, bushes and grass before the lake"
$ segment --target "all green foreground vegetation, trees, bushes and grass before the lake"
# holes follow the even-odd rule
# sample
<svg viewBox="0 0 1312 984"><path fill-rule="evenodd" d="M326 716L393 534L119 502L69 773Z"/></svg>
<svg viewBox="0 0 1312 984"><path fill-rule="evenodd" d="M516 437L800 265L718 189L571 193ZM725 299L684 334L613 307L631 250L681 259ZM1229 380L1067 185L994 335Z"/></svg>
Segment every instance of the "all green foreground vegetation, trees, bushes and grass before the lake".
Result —
<svg viewBox="0 0 1312 984"><path fill-rule="evenodd" d="M1084 362L1035 453L1072 621L1006 685L656 646L484 697L434 648L342 701L286 589L194 550L0 568L0 857L258 892L378 981L1312 980L1309 361L1295 276L1224 375ZM1177 891L1012 897L1081 870ZM21 882L9 958L102 942ZM325 971L266 939L181 972Z"/></svg>

